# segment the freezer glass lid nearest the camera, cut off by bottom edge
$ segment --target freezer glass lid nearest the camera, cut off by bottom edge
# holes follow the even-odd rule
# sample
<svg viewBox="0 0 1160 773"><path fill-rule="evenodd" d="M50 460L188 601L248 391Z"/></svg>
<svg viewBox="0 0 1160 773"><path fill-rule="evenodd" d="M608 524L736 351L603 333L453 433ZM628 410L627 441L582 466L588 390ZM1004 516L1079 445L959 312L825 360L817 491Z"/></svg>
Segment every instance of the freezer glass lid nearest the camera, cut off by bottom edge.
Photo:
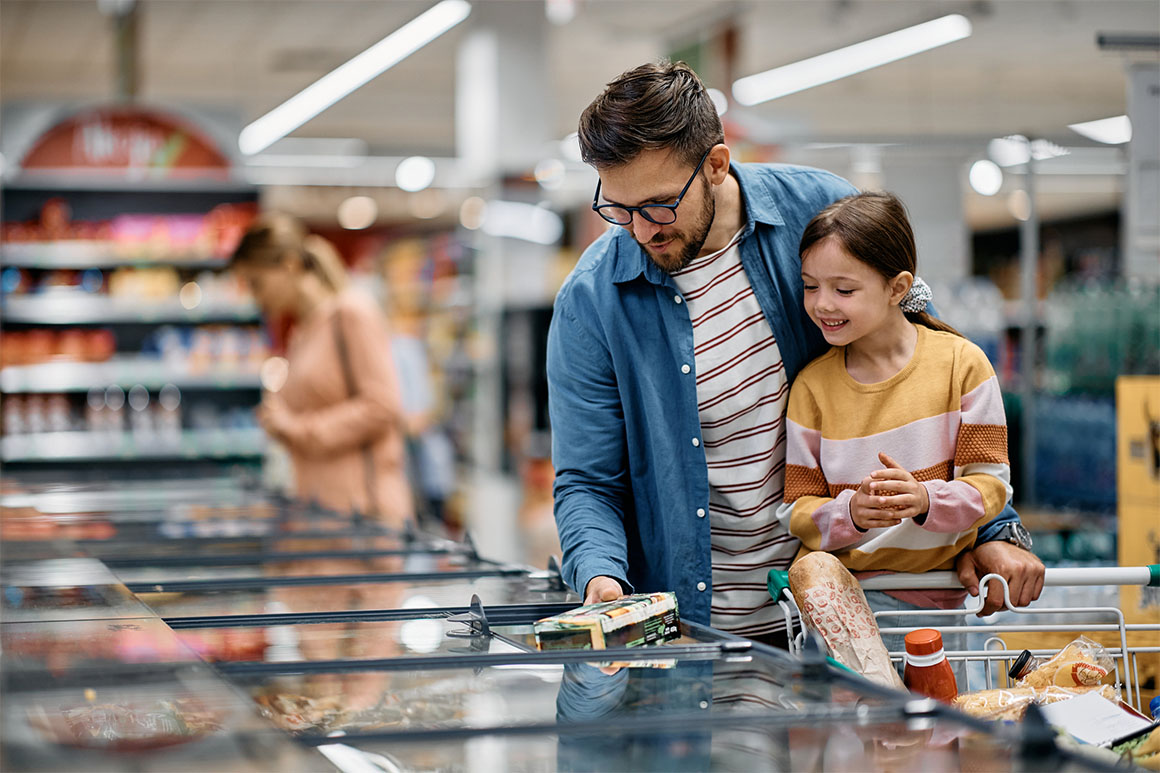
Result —
<svg viewBox="0 0 1160 773"><path fill-rule="evenodd" d="M860 773L893 771L1064 771L1093 770L1081 758L1020 757L1009 739L947 716L907 717L899 709L862 716L754 714L708 716L696 724L637 717L623 722L502 730L437 739L420 734L396 738L311 738L336 764L400 772L502 770L510 773L635 771L672 773ZM616 718L615 715L612 718Z"/></svg>

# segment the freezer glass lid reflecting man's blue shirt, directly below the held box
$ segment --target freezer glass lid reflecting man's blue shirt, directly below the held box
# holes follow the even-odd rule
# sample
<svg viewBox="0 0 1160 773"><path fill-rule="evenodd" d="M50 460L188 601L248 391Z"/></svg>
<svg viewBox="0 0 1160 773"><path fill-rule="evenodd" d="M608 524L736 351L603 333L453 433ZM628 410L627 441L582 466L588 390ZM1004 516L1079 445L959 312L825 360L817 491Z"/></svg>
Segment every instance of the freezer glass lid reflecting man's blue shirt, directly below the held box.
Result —
<svg viewBox="0 0 1160 773"><path fill-rule="evenodd" d="M248 674L245 669L227 673L271 722L312 738L617 723L661 715L699 721L754 711L849 718L858 710L906 700L835 688L827 680L813 682L788 659L716 649L641 649L648 652L635 651L632 658L623 650L580 657L537 652L512 653L499 662L481 658L484 663L447 658L437 667L428 663L425 667L360 670L351 662L349 670L325 672L288 666L277 674Z"/></svg>

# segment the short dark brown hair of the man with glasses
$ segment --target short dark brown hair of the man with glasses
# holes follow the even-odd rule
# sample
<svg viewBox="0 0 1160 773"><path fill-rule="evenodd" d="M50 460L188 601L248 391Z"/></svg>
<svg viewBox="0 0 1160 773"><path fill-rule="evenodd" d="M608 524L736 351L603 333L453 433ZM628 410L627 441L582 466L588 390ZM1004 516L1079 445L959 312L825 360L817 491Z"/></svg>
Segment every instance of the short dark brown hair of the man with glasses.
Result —
<svg viewBox="0 0 1160 773"><path fill-rule="evenodd" d="M580 116L580 156L596 168L628 164L640 151L672 150L687 164L725 142L717 108L683 62L630 70Z"/></svg>

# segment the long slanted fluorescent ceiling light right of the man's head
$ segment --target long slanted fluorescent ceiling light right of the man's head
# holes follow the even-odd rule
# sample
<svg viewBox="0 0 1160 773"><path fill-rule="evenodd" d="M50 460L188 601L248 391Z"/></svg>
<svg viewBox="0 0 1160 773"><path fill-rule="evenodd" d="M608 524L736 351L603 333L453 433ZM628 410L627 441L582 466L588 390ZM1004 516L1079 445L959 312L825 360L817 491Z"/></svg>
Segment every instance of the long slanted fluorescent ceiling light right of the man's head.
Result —
<svg viewBox="0 0 1160 773"><path fill-rule="evenodd" d="M733 82L733 99L747 107L821 86L971 36L960 14L900 29Z"/></svg>

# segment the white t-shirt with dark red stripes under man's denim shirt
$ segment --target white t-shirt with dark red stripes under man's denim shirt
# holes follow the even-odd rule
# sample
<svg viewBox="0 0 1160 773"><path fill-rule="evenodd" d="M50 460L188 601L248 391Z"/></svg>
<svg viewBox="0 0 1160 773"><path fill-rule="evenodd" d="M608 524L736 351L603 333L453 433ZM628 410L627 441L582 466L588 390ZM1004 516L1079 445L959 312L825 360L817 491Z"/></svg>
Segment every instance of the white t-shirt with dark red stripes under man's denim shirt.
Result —
<svg viewBox="0 0 1160 773"><path fill-rule="evenodd" d="M715 628L784 630L766 590L798 549L776 518L785 470L789 384L777 341L741 265L740 232L674 275L693 322L697 411L709 464Z"/></svg>

